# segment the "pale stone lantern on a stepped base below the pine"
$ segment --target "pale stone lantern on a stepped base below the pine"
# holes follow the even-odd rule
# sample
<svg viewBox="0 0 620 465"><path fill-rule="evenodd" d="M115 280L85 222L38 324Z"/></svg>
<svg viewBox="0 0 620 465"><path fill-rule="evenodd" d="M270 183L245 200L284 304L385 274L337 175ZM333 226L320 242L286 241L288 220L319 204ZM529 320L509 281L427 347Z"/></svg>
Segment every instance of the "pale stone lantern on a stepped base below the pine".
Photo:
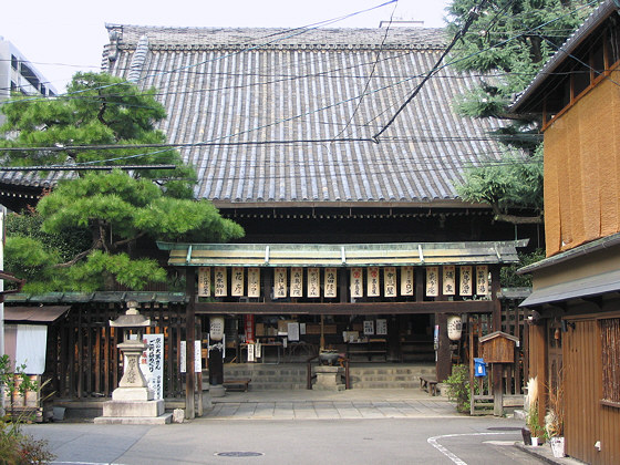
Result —
<svg viewBox="0 0 620 465"><path fill-rule="evenodd" d="M112 328L123 331L123 342L117 348L124 356L123 378L112 393L112 401L103 404L103 416L97 424L162 424L170 423L172 414L165 413L164 400L153 400L146 379L140 370L140 358L146 344L143 342L144 328L151 320L140 314L137 302L127 302L127 311L110 321Z"/></svg>

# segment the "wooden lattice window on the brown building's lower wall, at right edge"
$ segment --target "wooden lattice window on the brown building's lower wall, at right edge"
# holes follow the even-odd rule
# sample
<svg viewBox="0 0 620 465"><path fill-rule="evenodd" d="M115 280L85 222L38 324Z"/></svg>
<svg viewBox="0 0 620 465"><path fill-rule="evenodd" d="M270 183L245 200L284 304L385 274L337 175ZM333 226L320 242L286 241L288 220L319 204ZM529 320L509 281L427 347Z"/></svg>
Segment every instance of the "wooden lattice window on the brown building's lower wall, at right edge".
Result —
<svg viewBox="0 0 620 465"><path fill-rule="evenodd" d="M620 407L620 318L599 320L602 349L602 403Z"/></svg>

